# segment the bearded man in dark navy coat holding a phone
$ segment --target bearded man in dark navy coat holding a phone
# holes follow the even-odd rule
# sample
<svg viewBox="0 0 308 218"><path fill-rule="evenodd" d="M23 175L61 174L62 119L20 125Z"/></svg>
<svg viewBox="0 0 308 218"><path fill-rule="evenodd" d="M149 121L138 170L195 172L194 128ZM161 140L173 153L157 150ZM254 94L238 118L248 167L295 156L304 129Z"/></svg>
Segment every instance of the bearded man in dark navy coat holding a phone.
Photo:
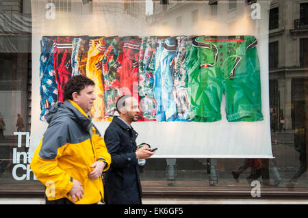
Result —
<svg viewBox="0 0 308 218"><path fill-rule="evenodd" d="M136 145L138 133L130 124L138 120L138 100L121 96L116 109L120 116L114 116L104 135L112 157L110 169L105 173L104 200L106 204L142 204L138 159L149 159L154 152L147 144Z"/></svg>

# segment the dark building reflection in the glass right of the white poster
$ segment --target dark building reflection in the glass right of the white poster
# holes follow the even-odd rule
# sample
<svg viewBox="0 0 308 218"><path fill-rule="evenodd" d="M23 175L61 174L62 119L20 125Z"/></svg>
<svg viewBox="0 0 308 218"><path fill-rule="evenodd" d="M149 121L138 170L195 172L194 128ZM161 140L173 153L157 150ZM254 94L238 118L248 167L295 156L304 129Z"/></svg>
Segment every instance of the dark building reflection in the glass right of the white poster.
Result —
<svg viewBox="0 0 308 218"><path fill-rule="evenodd" d="M283 115L286 130L305 128L301 116L308 84L307 1L272 1L269 27L271 112L276 112L276 126Z"/></svg>

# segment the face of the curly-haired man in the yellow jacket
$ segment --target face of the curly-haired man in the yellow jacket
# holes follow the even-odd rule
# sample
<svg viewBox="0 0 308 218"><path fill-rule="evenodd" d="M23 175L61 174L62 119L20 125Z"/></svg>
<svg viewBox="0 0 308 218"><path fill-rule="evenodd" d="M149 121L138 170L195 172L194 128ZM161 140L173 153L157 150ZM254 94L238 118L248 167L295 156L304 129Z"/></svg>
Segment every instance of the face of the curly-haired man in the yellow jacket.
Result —
<svg viewBox="0 0 308 218"><path fill-rule="evenodd" d="M74 92L75 93L75 92ZM91 111L93 101L97 99L94 95L94 85L87 85L79 94L73 93L73 101L84 110L85 113Z"/></svg>

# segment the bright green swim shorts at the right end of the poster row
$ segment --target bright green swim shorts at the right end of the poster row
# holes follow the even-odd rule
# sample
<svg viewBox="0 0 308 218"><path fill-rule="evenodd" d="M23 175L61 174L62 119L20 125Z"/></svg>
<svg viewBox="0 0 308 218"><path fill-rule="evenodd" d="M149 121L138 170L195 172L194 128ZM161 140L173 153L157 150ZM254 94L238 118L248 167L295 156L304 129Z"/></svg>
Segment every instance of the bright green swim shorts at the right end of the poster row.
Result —
<svg viewBox="0 0 308 218"><path fill-rule="evenodd" d="M257 40L254 36L198 36L185 57L190 118L221 120L222 94L229 122L263 120Z"/></svg>

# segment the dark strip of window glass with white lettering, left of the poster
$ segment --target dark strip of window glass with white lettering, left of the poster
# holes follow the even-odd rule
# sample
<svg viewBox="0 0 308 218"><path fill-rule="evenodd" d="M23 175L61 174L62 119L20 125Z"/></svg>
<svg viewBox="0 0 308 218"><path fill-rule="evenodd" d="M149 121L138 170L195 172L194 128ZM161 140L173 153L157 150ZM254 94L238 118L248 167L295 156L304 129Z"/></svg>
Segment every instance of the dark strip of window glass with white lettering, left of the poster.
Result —
<svg viewBox="0 0 308 218"><path fill-rule="evenodd" d="M26 143L31 128L31 5L0 5L0 186L40 185L31 173Z"/></svg>

